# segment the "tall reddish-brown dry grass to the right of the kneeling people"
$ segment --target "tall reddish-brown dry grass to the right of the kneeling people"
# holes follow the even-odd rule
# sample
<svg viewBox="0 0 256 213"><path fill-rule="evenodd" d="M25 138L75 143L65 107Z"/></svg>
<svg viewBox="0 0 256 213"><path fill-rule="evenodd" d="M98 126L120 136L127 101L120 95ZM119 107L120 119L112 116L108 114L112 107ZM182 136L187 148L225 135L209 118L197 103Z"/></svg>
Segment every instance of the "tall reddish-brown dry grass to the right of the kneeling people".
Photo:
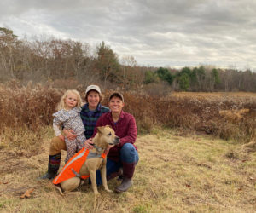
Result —
<svg viewBox="0 0 256 213"><path fill-rule="evenodd" d="M256 94L173 93L152 97L125 93L125 110L139 128L152 124L204 131L225 140L244 143L256 138Z"/></svg>

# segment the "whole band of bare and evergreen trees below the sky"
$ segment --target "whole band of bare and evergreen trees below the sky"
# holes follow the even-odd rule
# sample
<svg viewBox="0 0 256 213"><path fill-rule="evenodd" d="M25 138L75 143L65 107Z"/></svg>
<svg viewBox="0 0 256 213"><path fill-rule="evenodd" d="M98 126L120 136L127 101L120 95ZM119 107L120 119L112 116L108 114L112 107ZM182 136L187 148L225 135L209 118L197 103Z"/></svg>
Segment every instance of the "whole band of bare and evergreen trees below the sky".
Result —
<svg viewBox="0 0 256 213"><path fill-rule="evenodd" d="M28 41L0 27L0 83L98 83L102 88L256 92L256 73L214 66L138 66L133 56L119 59L102 42L88 43L55 38Z"/></svg>

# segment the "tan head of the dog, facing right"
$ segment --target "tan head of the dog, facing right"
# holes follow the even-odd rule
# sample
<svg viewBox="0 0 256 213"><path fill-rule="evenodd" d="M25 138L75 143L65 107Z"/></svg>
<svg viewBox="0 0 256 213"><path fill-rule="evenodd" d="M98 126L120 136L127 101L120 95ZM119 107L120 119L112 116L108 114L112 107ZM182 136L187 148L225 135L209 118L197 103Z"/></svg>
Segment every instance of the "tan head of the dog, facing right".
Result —
<svg viewBox="0 0 256 213"><path fill-rule="evenodd" d="M97 127L97 130L101 141L107 143L108 147L113 147L114 145L119 144L120 138L119 136L115 135L114 130L111 128L111 126L99 126Z"/></svg>

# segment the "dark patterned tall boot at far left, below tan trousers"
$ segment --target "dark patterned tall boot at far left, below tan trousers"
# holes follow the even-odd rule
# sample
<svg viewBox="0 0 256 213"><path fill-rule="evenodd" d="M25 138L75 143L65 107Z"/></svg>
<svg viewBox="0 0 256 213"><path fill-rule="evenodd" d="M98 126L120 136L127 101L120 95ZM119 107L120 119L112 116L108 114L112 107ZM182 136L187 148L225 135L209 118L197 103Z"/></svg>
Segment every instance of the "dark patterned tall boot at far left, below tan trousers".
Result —
<svg viewBox="0 0 256 213"><path fill-rule="evenodd" d="M54 179L57 176L58 170L61 164L61 153L55 155L49 155L48 171L44 176L38 177L38 179Z"/></svg>

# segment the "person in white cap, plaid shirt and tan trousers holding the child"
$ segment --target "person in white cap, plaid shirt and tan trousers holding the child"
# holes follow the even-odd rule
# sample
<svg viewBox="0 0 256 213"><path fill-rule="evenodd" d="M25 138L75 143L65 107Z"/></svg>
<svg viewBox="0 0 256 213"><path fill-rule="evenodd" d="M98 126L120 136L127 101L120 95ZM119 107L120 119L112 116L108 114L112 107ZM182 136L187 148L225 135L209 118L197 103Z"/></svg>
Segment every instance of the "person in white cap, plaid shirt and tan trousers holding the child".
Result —
<svg viewBox="0 0 256 213"><path fill-rule="evenodd" d="M103 113L108 112L109 108L102 106L102 92L97 85L90 85L86 88L85 101L86 104L81 109L80 117L82 118L85 128L84 135L86 139L90 139L93 135L96 121ZM70 141L77 137L73 128L63 130L63 133ZM61 164L61 150L67 150L67 146L63 139L64 136L62 138L56 136L51 140L49 147L48 171L44 176L39 177L40 179L53 179L57 175ZM85 146L88 146L89 143L90 140L85 141Z"/></svg>

